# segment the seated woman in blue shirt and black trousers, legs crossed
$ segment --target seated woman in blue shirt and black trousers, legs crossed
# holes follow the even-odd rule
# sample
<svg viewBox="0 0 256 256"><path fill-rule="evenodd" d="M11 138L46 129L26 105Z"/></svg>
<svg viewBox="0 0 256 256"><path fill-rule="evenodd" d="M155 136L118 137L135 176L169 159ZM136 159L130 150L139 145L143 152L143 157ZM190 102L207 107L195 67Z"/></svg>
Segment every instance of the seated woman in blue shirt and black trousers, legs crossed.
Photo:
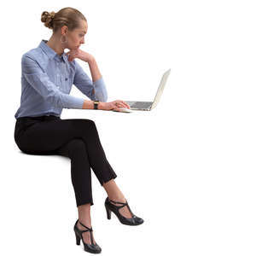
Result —
<svg viewBox="0 0 256 256"><path fill-rule="evenodd" d="M21 99L15 113L15 143L26 154L61 154L71 160L71 176L79 218L73 230L77 245L82 239L84 250L101 253L90 224L90 167L106 190L105 207L121 224L143 224L131 212L125 196L114 182L117 177L108 163L96 125L90 119L61 119L62 108L117 110L130 108L124 101L107 102L107 90L93 55L79 49L84 44L88 25L79 10L64 8L43 12L44 26L53 30L49 40L42 40L21 58ZM70 49L67 54L64 49ZM88 63L92 80L84 73L79 58ZM70 96L72 85L91 101Z"/></svg>

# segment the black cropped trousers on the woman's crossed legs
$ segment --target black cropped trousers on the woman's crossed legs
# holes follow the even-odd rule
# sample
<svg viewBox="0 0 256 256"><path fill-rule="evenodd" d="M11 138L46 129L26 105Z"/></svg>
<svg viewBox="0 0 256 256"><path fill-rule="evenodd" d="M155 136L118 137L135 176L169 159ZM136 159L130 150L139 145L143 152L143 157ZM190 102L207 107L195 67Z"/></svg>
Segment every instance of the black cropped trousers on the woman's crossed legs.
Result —
<svg viewBox="0 0 256 256"><path fill-rule="evenodd" d="M90 167L101 185L117 177L93 120L61 119L54 115L21 117L15 124L15 143L26 154L60 154L70 158L77 207L94 204Z"/></svg>

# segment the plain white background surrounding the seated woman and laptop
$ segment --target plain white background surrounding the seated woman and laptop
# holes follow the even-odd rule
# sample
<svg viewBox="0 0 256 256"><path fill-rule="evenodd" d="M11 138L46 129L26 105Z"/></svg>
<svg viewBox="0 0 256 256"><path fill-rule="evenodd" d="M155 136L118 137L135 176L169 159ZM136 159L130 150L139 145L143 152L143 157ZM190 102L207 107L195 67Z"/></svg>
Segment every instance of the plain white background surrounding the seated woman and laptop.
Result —
<svg viewBox="0 0 256 256"><path fill-rule="evenodd" d="M21 55L50 38L44 10L73 7L88 20L81 49L95 56L108 101L153 100L172 68L152 112L61 114L96 122L115 181L144 218L136 227L108 220L107 194L93 173L91 218L102 255L255 255L253 1L53 3L8 2L1 11L0 253L85 253L73 233L70 160L23 154L14 140ZM75 86L71 95L83 96Z"/></svg>

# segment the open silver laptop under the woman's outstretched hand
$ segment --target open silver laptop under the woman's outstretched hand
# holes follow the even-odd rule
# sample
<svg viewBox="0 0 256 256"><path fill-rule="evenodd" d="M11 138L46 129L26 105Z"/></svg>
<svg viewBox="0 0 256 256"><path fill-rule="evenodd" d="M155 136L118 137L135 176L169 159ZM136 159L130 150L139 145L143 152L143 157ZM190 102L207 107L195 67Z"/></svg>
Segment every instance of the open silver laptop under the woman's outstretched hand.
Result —
<svg viewBox="0 0 256 256"><path fill-rule="evenodd" d="M171 68L169 68L162 76L162 79L160 81L160 85L158 87L158 90L156 92L156 95L154 96L153 102L131 102L131 101L125 101L131 108L131 110L151 110L156 107L158 102L160 102L160 96L163 93L163 90L166 86L166 81L169 77L169 74L171 73Z"/></svg>

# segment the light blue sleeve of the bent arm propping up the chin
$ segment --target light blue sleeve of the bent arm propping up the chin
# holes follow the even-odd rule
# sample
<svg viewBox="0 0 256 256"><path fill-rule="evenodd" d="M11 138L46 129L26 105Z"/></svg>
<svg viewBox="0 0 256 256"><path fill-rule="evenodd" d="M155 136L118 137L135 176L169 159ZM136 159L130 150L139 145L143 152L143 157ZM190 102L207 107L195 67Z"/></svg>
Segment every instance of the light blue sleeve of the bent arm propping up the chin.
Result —
<svg viewBox="0 0 256 256"><path fill-rule="evenodd" d="M73 79L73 84L92 101L107 102L108 92L106 89L106 84L101 77L96 81L92 82L84 69L79 65L77 61L75 63L75 76Z"/></svg>

